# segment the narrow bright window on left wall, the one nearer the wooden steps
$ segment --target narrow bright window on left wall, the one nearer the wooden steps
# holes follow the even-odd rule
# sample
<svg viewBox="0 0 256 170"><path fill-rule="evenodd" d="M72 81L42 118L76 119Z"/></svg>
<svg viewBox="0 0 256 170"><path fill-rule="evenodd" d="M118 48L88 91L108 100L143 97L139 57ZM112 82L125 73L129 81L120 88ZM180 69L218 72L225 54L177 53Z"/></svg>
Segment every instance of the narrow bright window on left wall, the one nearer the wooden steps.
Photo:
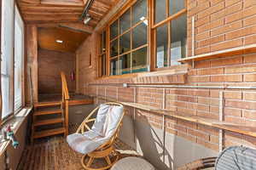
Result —
<svg viewBox="0 0 256 170"><path fill-rule="evenodd" d="M22 106L24 24L17 7L15 11L15 112L17 112Z"/></svg>

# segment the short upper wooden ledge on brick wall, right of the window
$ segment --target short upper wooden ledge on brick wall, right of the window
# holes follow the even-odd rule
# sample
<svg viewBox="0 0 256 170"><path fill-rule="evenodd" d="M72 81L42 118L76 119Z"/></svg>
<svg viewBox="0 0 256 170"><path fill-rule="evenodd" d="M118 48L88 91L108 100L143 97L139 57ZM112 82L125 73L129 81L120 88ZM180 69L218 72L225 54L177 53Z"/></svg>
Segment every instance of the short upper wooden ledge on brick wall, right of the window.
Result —
<svg viewBox="0 0 256 170"><path fill-rule="evenodd" d="M178 61L181 63L186 63L190 61L224 58L224 57L230 57L230 56L239 55L239 54L252 54L252 53L256 53L256 43L239 47L239 48L230 48L230 49L224 49L224 50L220 50L212 53L195 55L192 57L187 57L185 59L179 59Z"/></svg>

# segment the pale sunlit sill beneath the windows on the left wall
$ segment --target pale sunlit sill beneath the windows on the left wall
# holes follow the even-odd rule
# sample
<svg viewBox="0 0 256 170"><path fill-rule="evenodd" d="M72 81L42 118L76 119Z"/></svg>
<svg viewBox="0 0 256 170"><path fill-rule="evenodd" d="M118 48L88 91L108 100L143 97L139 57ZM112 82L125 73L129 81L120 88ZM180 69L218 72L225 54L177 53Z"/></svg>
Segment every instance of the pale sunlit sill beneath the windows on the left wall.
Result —
<svg viewBox="0 0 256 170"><path fill-rule="evenodd" d="M25 121L26 116L29 115L29 113L32 111L32 107L26 107L20 110L19 113L16 114L16 116L13 116L12 119L10 119L8 122L5 122L2 127L6 125L12 125L14 132L17 133L18 129L20 128L20 125ZM1 130L1 128L0 128ZM2 131L0 134L0 141L2 139ZM0 143L0 156L3 155L4 151L9 146L10 141L6 141L3 143Z"/></svg>

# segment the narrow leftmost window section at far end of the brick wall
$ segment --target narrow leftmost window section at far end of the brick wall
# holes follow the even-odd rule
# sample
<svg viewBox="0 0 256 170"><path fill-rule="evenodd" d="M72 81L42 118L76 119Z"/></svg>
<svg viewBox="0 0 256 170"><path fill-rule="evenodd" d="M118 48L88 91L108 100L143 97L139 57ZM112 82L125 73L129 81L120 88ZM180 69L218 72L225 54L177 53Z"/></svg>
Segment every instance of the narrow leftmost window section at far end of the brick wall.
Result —
<svg viewBox="0 0 256 170"><path fill-rule="evenodd" d="M106 42L107 42L107 33L106 31L103 31L100 35L100 49L99 49L99 77L104 77L107 74L106 69ZM90 62L91 62L91 54L90 54ZM91 63L90 63L91 64Z"/></svg>

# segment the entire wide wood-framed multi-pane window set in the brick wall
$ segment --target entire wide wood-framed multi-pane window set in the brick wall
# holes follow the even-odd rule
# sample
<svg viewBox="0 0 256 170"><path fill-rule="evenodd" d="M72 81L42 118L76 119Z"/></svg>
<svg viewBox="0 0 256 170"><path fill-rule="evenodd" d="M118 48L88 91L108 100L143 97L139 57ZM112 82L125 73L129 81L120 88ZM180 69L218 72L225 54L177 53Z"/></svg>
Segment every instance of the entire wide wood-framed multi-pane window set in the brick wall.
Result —
<svg viewBox="0 0 256 170"><path fill-rule="evenodd" d="M108 76L180 65L178 60L187 55L186 0L137 0L106 30L108 53L100 59L99 71L107 70Z"/></svg>

